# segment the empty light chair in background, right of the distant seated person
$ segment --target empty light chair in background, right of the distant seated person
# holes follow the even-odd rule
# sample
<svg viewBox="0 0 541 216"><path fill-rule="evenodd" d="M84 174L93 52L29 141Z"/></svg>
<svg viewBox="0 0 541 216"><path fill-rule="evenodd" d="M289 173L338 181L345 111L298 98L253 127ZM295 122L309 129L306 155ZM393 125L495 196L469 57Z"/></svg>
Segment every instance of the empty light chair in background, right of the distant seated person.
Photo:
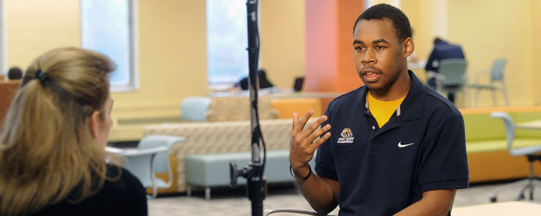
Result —
<svg viewBox="0 0 541 216"><path fill-rule="evenodd" d="M489 84L479 84L478 82L478 75L476 74L476 83L475 84L469 84L468 88L470 89L476 89L476 104L479 101L479 90L490 90L492 91L492 102L494 106L497 105L496 103L496 91L498 89L501 89L503 93L503 98L505 100L505 105L509 106L509 98L507 95L507 89L505 89L505 79L503 79L503 69L505 68L505 64L507 64L507 59L496 59L494 63L492 64L492 69L490 71L491 76L491 82ZM500 82L500 86L496 84L496 82Z"/></svg>

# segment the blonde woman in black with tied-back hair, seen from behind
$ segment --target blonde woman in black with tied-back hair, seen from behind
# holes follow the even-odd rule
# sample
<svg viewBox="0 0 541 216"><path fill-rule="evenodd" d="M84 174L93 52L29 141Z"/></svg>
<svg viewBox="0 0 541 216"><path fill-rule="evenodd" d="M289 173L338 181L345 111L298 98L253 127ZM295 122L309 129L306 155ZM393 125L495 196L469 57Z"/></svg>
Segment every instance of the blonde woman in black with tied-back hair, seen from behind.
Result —
<svg viewBox="0 0 541 216"><path fill-rule="evenodd" d="M114 67L80 48L28 67L0 134L0 215L147 215L139 180L106 162Z"/></svg>

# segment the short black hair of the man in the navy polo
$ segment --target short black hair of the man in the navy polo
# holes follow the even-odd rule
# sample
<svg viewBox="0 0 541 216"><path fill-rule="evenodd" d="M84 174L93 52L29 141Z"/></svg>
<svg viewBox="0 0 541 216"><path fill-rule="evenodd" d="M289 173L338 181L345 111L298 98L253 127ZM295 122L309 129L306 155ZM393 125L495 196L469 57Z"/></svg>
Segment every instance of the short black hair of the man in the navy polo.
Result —
<svg viewBox="0 0 541 216"><path fill-rule="evenodd" d="M355 25L353 25L353 33L355 33L355 27L357 27L357 23L360 20L383 20L385 18L390 19L392 22L392 26L395 27L395 32L400 41L404 41L406 38L412 38L412 26L409 25L407 16L399 8L388 4L376 4L361 13L355 21Z"/></svg>

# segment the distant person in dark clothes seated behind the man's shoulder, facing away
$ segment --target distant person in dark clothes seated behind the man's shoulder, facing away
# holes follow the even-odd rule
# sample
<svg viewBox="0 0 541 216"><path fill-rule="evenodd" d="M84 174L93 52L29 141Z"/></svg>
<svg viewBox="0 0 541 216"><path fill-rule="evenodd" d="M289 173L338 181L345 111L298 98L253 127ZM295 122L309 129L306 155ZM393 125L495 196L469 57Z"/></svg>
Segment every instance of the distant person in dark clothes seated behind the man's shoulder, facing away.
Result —
<svg viewBox="0 0 541 216"><path fill-rule="evenodd" d="M450 44L441 38L434 39L434 48L430 52L430 56L427 60L427 65L424 66L424 69L427 72L438 72L438 66L434 65L434 62L439 62L442 59L464 59L464 52L460 45ZM436 90L436 77L432 76L428 80L428 86ZM452 86L449 86L452 87ZM447 99L454 103L454 93L449 92Z"/></svg>

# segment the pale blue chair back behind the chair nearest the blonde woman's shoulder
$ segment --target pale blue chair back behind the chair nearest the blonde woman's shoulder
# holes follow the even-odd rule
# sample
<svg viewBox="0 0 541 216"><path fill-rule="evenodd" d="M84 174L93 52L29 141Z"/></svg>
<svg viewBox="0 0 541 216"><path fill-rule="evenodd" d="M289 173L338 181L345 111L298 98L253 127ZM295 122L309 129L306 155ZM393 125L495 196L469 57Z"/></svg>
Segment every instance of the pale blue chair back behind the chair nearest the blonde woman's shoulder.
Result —
<svg viewBox="0 0 541 216"><path fill-rule="evenodd" d="M137 149L151 149L155 147L171 148L173 144L181 141L184 141L184 137L148 135L139 141L139 144L137 144ZM156 173L164 173L168 171L169 168L169 151L156 154L156 157L154 157L154 171Z"/></svg>

